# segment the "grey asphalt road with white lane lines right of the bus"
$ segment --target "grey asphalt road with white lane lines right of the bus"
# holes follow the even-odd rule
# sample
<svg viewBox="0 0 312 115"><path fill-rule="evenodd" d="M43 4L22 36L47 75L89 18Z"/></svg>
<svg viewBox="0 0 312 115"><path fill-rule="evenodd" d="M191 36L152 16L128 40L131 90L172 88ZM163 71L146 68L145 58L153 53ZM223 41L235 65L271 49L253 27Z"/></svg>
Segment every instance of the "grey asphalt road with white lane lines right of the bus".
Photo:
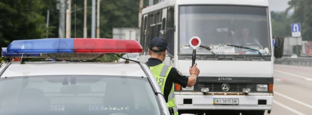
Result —
<svg viewBox="0 0 312 115"><path fill-rule="evenodd" d="M275 64L273 91L270 115L312 115L312 67Z"/></svg>

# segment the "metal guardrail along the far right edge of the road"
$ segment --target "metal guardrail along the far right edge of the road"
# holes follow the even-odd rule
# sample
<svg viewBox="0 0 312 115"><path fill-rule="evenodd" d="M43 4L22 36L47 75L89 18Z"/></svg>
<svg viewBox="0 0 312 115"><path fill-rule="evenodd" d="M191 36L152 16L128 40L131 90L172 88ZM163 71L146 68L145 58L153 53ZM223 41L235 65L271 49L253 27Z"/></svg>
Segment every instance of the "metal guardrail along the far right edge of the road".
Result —
<svg viewBox="0 0 312 115"><path fill-rule="evenodd" d="M284 65L296 65L296 66L309 66L312 67L312 58L290 58L290 57L283 57L280 59L276 59L276 64L284 64Z"/></svg>

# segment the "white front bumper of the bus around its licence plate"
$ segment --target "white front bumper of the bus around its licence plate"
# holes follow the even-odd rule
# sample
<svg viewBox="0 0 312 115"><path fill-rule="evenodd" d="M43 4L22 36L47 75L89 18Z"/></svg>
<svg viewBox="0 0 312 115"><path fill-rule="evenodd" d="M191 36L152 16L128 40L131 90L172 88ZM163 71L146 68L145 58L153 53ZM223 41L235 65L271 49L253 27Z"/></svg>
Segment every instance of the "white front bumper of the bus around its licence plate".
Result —
<svg viewBox="0 0 312 115"><path fill-rule="evenodd" d="M214 98L239 99L238 105L214 105ZM184 104L184 101L192 104ZM259 103L260 102L262 103ZM266 104L263 101L266 100ZM178 110L272 110L273 96L249 95L177 95Z"/></svg>

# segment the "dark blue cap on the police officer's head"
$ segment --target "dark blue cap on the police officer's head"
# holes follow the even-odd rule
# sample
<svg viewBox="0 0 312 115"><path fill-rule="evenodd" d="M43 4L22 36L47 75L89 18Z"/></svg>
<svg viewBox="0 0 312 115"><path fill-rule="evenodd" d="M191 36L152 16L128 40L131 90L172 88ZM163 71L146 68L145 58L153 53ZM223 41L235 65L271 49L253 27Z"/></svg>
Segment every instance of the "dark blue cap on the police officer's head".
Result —
<svg viewBox="0 0 312 115"><path fill-rule="evenodd" d="M158 47L159 50L154 50L153 47ZM168 49L168 43L167 41L162 37L154 37L149 44L149 50L153 52L164 52Z"/></svg>

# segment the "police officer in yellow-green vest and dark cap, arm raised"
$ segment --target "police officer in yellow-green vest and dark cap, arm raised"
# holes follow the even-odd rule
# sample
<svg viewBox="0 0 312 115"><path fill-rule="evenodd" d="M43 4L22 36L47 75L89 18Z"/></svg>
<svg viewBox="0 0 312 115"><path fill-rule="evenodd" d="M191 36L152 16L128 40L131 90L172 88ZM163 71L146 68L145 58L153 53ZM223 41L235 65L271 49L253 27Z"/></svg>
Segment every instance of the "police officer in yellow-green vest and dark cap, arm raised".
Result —
<svg viewBox="0 0 312 115"><path fill-rule="evenodd" d="M174 103L173 83L178 83L183 88L192 87L196 83L199 69L190 67L190 77L182 75L178 69L163 64L168 50L168 43L161 37L155 37L149 44L149 55L151 58L146 62L149 65L157 83L165 97L171 115L178 115L178 109Z"/></svg>

